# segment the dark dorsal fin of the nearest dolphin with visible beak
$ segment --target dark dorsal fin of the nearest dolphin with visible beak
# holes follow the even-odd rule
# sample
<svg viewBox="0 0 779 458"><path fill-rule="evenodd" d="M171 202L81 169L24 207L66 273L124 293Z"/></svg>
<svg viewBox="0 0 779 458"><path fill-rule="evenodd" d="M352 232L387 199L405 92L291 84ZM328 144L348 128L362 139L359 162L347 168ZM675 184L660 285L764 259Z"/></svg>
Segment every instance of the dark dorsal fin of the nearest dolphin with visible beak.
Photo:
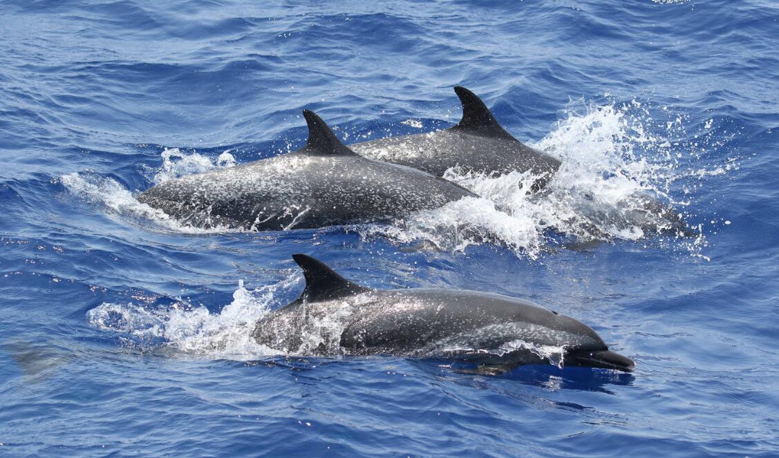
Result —
<svg viewBox="0 0 779 458"><path fill-rule="evenodd" d="M341 277L319 259L300 254L292 255L292 259L298 263L305 277L305 290L299 301L327 301L369 291Z"/></svg>

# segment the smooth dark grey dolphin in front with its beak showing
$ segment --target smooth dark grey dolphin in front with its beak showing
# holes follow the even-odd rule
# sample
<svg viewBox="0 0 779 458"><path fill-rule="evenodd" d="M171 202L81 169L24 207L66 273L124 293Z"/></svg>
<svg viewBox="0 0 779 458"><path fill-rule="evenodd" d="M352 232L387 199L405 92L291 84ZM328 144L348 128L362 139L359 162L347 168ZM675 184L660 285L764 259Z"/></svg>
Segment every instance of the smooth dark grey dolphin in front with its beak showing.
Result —
<svg viewBox="0 0 779 458"><path fill-rule="evenodd" d="M549 363L545 347L562 347L564 365L626 372L635 366L609 351L589 326L529 301L464 290L372 290L345 280L310 256L293 258L303 269L305 291L259 319L252 332L258 343L280 351L300 353L315 323L330 322L335 332L315 331L321 341L310 353L393 354L516 366Z"/></svg>

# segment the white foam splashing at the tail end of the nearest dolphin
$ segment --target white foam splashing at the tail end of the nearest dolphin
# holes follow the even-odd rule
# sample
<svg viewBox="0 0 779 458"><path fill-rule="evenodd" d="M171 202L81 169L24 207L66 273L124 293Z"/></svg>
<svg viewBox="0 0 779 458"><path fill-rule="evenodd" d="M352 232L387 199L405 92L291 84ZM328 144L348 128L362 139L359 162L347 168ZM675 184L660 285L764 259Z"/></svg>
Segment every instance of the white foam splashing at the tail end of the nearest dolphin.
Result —
<svg viewBox="0 0 779 458"><path fill-rule="evenodd" d="M179 300L173 305L154 306L135 303L103 303L87 312L91 326L118 333L128 347L143 351L189 355L194 358L250 361L267 356L310 356L342 354L340 334L357 303L331 301L306 314L304 322L280 320L274 332L295 333L300 346L294 349L267 347L252 338L256 323L268 312L286 303L283 294L299 288L302 275L291 274L277 284L248 290L241 281L233 300L220 312L192 306ZM300 326L298 328L289 326Z"/></svg>

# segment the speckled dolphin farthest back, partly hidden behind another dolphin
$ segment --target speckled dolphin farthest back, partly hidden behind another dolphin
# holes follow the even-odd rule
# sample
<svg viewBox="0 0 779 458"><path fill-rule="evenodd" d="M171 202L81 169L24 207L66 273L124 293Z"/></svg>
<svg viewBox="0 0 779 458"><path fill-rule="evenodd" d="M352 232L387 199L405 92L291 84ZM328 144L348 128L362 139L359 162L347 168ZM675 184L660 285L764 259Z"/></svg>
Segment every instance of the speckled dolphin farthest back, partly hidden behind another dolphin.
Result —
<svg viewBox="0 0 779 458"><path fill-rule="evenodd" d="M560 161L511 136L470 90L456 86L454 92L463 104L463 118L457 125L439 132L353 143L350 148L362 156L414 167L437 177L452 167L496 175L530 171L538 177L531 189L543 188Z"/></svg>

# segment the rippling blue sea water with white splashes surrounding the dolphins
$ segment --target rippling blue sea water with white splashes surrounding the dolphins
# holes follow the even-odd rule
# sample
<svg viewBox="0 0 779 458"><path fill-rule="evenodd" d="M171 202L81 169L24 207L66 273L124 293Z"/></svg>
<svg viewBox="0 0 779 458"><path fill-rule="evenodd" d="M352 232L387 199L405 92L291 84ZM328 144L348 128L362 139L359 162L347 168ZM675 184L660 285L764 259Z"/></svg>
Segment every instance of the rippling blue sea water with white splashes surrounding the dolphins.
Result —
<svg viewBox="0 0 779 458"><path fill-rule="evenodd" d="M776 2L265 3L0 2L0 456L779 454ZM241 233L133 197L297 148L303 108L446 128L456 85L562 159L548 200L453 172L485 199ZM599 219L636 190L696 234ZM295 252L529 298L636 371L263 351Z"/></svg>

